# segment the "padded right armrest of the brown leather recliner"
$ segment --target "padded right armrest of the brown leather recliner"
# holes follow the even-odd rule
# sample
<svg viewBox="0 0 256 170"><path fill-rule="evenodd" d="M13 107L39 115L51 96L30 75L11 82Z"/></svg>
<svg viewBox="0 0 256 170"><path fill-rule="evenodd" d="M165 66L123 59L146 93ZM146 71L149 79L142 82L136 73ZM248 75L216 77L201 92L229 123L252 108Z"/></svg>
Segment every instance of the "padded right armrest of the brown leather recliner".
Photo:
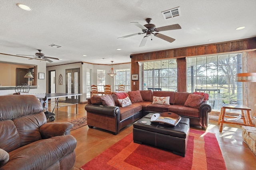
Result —
<svg viewBox="0 0 256 170"><path fill-rule="evenodd" d="M69 135L72 123L45 123L39 129L42 139L47 139L54 136Z"/></svg>

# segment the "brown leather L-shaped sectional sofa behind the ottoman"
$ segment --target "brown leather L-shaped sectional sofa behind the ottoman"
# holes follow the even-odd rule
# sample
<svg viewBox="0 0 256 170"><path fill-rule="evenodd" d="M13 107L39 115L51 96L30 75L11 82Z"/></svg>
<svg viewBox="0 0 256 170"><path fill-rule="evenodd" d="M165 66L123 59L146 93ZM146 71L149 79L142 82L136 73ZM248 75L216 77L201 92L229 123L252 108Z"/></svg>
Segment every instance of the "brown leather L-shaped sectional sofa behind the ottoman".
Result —
<svg viewBox="0 0 256 170"><path fill-rule="evenodd" d="M211 111L211 106L208 101L200 104L200 107L193 108L184 106L188 92L165 92L140 90L142 102L132 103L130 106L120 107L116 102L117 96L110 95L116 106L103 106L100 96L93 96L88 99L88 104L85 106L87 111L87 124L90 128L97 127L111 131L113 134L118 134L120 129L140 119L148 113L161 113L170 111L182 117L190 119L190 125L201 126L206 129L208 126L208 113ZM166 97L170 96L170 105L152 104L153 96Z"/></svg>

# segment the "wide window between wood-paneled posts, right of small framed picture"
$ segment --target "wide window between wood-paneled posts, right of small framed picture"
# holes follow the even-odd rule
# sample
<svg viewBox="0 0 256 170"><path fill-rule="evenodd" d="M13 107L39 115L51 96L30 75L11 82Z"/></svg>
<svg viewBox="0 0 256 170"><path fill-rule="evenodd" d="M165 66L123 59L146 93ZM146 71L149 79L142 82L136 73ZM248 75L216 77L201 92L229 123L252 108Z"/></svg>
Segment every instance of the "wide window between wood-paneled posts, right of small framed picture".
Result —
<svg viewBox="0 0 256 170"><path fill-rule="evenodd" d="M141 63L140 79L140 89L142 90L176 91L176 59Z"/></svg>

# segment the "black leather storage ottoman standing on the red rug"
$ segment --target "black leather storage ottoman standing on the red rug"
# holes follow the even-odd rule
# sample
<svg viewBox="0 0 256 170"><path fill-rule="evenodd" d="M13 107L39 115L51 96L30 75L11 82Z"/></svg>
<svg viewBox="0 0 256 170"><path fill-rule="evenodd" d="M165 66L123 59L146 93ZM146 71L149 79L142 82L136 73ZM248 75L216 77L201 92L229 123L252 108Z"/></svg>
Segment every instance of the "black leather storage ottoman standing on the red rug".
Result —
<svg viewBox="0 0 256 170"><path fill-rule="evenodd" d="M151 123L150 115L153 114L149 113L133 124L134 143L150 145L185 156L190 128L189 119L182 117L178 125L172 127Z"/></svg>

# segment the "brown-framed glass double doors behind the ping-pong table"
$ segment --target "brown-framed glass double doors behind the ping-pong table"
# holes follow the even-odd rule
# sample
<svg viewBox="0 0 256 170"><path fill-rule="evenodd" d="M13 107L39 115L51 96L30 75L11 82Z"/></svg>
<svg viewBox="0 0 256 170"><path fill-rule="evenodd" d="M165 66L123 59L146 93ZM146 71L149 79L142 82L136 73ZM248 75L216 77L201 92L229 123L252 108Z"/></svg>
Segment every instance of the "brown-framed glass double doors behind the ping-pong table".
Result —
<svg viewBox="0 0 256 170"><path fill-rule="evenodd" d="M80 93L80 68L66 69L66 93ZM76 97L66 97L66 102L76 103ZM78 96L80 102L80 96Z"/></svg>

